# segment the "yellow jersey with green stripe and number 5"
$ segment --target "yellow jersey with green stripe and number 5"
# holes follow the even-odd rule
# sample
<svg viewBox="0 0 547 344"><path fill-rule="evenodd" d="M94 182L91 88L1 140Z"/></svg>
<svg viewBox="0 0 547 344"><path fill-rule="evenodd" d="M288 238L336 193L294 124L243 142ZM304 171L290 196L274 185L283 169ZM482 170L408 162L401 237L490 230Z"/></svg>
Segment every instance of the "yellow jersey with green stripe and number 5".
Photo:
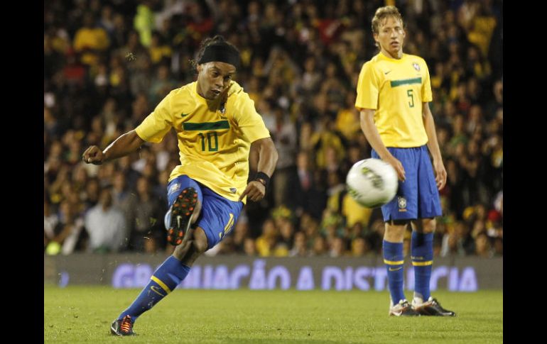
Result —
<svg viewBox="0 0 547 344"><path fill-rule="evenodd" d="M396 60L381 52L366 62L357 82L357 110L372 109L386 147L420 147L428 142L422 103L433 100L426 61L403 54Z"/></svg>

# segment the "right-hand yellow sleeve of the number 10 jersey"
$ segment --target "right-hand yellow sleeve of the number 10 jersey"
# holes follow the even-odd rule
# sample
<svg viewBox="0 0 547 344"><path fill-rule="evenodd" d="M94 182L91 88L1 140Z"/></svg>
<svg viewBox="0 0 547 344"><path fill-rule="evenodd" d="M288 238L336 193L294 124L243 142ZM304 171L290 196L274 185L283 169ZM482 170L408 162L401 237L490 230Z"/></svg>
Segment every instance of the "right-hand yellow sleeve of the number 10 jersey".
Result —
<svg viewBox="0 0 547 344"><path fill-rule="evenodd" d="M254 108L254 101L244 91L239 92L235 103L234 120L249 142L253 143L261 138L269 138L270 132L266 128L262 117Z"/></svg>

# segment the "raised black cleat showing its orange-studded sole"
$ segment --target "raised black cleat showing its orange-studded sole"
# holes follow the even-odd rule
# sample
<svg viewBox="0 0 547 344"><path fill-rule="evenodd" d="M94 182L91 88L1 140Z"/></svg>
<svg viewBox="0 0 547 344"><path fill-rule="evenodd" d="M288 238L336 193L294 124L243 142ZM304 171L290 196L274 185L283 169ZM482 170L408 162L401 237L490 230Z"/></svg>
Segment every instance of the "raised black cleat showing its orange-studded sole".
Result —
<svg viewBox="0 0 547 344"><path fill-rule="evenodd" d="M167 230L167 242L171 245L180 245L190 236L192 223L190 219L196 204L197 192L193 187L187 187L175 199L175 203L171 206L171 224Z"/></svg>

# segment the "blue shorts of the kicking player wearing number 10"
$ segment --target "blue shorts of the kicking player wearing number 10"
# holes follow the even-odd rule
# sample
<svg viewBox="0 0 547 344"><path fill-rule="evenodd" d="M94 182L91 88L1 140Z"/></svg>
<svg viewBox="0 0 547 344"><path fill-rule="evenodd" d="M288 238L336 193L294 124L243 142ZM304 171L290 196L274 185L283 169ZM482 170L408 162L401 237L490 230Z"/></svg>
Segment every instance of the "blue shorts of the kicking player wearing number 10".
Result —
<svg viewBox="0 0 547 344"><path fill-rule="evenodd" d="M197 199L201 203L200 217L197 218L195 226L205 231L207 235L207 249L220 243L224 235L229 233L239 218L243 209L243 202L230 201L213 192L205 185L196 182L187 175L182 175L171 180L167 184L167 199L169 209L175 203L175 199L187 187L193 187L197 191ZM166 213L166 228L170 224L170 210Z"/></svg>

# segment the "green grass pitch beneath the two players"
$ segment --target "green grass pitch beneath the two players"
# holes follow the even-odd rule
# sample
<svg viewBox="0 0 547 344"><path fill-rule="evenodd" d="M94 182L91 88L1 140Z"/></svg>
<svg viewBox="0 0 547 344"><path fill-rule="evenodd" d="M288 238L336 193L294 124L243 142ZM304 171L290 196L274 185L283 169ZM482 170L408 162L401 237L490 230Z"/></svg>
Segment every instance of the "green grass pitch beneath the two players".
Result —
<svg viewBox="0 0 547 344"><path fill-rule="evenodd" d="M110 335L139 292L44 287L44 343L503 343L501 290L435 292L455 318L396 318L387 292L177 289L139 318L139 335Z"/></svg>

